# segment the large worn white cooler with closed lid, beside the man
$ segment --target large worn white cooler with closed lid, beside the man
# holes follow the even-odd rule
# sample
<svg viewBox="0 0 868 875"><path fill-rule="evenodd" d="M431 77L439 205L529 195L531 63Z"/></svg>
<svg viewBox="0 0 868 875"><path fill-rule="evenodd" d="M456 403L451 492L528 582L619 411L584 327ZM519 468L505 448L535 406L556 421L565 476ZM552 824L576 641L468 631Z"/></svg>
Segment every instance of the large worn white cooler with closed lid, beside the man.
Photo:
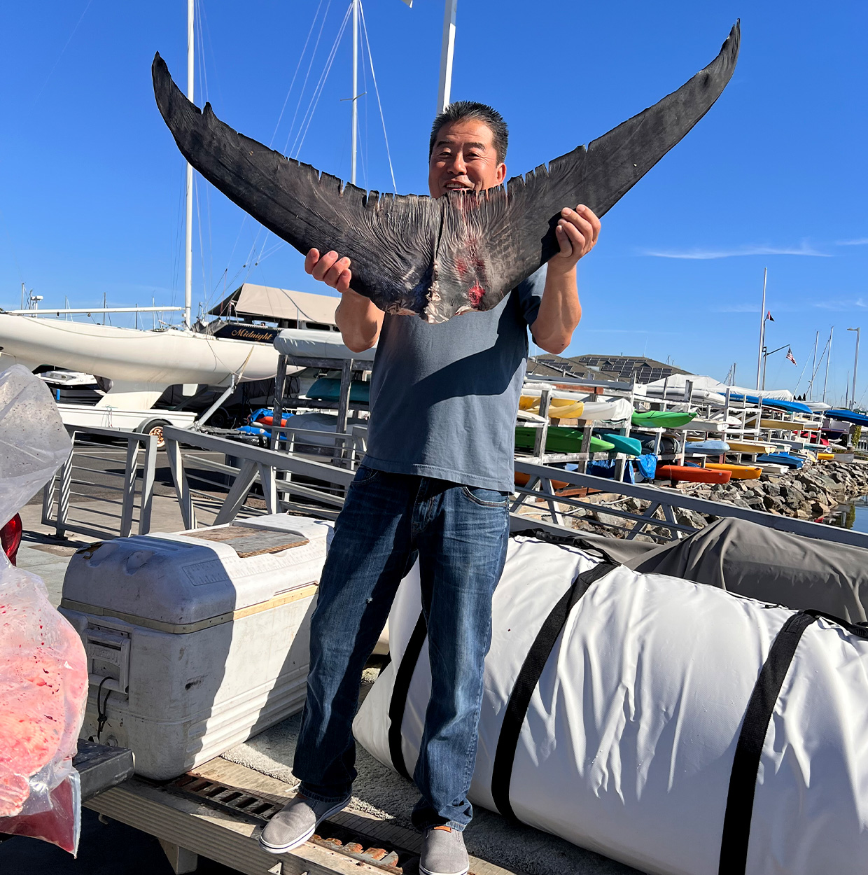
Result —
<svg viewBox="0 0 868 875"><path fill-rule="evenodd" d="M60 613L88 653L82 738L164 780L300 711L331 525L273 514L80 549Z"/></svg>

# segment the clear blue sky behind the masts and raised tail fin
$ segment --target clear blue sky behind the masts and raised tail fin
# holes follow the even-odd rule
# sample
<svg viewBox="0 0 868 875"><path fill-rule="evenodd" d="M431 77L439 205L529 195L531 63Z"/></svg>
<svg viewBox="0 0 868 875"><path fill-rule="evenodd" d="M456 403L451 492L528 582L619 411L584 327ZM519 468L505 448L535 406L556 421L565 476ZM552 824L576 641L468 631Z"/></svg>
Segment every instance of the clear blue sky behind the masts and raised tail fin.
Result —
<svg viewBox="0 0 868 875"><path fill-rule="evenodd" d="M348 28L311 102L348 2L199 0L197 102L348 179ZM820 10L460 0L452 98L506 117L507 176L678 88L741 17L724 95L606 215L581 262L584 318L566 354L645 353L718 379L738 362L737 379L753 385L768 268L767 341L791 344L798 361L775 355L768 384L795 388L815 332L822 349L835 325L829 394L843 400L855 339L845 329L868 328L868 4ZM368 0L365 18L397 190L426 193L443 5ZM150 65L159 51L185 81L186 3L4 4L0 22L0 306L18 307L22 282L43 306L96 306L103 294L115 305L180 303L184 162L154 104ZM359 181L391 190L369 63L364 77ZM197 195L194 301L214 304L244 279L322 290L294 249L201 180ZM868 360L860 373L865 402Z"/></svg>

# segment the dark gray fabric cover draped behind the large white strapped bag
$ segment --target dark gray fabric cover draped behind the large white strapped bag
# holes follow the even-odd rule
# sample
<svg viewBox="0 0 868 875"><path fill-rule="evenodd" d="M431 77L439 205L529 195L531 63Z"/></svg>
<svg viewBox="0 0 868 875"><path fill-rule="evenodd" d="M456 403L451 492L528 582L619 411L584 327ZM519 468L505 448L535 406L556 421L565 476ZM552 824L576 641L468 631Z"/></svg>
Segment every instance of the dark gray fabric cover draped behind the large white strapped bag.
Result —
<svg viewBox="0 0 868 875"><path fill-rule="evenodd" d="M683 577L797 610L815 608L852 623L866 619L868 550L753 522L719 520L626 564L643 574Z"/></svg>

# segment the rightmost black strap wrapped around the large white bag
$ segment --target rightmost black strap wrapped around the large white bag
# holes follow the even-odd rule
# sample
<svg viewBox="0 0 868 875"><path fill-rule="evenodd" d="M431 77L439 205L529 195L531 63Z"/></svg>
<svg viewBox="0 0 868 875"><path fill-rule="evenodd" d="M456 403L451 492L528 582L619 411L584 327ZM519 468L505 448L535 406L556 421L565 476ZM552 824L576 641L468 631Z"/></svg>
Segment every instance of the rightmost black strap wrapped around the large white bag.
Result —
<svg viewBox="0 0 868 875"><path fill-rule="evenodd" d="M768 724L781 687L795 656L802 633L818 617L844 627L849 633L868 640L868 629L842 620L824 611L794 613L781 627L769 648L766 662L753 685L747 703L745 722L732 760L730 788L726 796L724 834L720 841L718 875L744 875L747 866L747 846L751 838L753 795L757 786L762 748L766 743Z"/></svg>

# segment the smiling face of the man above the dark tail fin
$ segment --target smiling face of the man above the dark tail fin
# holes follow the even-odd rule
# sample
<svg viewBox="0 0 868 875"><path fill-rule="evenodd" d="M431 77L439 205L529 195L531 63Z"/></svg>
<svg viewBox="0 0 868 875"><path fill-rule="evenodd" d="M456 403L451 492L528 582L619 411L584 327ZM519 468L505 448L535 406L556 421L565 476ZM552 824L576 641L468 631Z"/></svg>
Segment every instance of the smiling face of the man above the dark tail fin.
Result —
<svg viewBox="0 0 868 875"><path fill-rule="evenodd" d="M507 165L498 161L491 129L479 119L444 124L437 131L428 165L428 188L432 198L453 189L484 191L500 186Z"/></svg>

